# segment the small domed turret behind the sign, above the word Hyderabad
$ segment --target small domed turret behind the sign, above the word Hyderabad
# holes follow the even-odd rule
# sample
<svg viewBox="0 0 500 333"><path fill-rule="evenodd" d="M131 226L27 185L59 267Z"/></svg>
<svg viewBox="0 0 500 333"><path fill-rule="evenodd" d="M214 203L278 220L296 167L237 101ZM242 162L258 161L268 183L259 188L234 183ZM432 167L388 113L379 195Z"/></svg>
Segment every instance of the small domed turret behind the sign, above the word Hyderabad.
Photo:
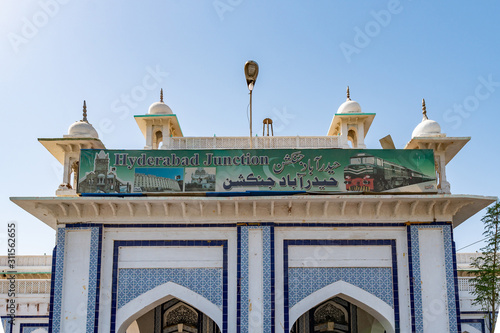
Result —
<svg viewBox="0 0 500 333"><path fill-rule="evenodd" d="M160 101L151 104L146 115L134 118L146 138L144 149L166 148L170 137L183 136L177 116L163 102L163 89L160 90Z"/></svg>

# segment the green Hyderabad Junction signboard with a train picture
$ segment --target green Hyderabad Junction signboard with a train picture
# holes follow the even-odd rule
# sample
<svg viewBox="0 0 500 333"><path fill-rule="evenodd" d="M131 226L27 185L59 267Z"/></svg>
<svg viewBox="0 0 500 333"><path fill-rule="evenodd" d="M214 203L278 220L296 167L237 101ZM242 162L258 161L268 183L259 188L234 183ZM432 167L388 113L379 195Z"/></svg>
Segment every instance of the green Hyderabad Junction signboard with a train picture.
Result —
<svg viewBox="0 0 500 333"><path fill-rule="evenodd" d="M78 193L436 192L432 150L102 150L80 156Z"/></svg>

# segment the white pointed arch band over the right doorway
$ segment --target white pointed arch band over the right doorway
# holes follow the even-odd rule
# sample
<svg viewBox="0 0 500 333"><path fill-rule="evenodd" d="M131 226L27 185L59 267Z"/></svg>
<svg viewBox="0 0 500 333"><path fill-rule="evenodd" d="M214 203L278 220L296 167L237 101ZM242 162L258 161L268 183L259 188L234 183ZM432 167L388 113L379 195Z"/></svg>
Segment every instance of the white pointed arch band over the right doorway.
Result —
<svg viewBox="0 0 500 333"><path fill-rule="evenodd" d="M334 296L363 309L377 319L387 333L394 333L394 309L377 296L345 281L321 288L295 304L290 309L290 323L295 323L303 313Z"/></svg>

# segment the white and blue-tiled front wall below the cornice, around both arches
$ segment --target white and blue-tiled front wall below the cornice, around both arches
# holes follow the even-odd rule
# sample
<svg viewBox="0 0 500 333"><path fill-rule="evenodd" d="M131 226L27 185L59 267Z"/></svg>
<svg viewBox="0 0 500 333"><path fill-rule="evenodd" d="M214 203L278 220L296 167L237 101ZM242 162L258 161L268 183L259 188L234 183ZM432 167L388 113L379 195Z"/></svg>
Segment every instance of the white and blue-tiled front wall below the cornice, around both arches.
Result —
<svg viewBox="0 0 500 333"><path fill-rule="evenodd" d="M67 225L52 332L124 331L172 297L222 332L283 332L335 295L387 332L458 332L451 244L447 223Z"/></svg>

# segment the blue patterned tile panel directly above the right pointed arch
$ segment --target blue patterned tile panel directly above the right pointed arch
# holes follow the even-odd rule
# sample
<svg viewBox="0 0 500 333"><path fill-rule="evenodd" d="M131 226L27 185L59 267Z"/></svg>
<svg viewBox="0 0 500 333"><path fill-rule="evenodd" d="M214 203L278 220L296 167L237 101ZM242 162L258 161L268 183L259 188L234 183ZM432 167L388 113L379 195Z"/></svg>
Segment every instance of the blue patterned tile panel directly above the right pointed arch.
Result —
<svg viewBox="0 0 500 333"><path fill-rule="evenodd" d="M394 306L391 268L313 267L288 269L289 307L337 281L355 285Z"/></svg>

